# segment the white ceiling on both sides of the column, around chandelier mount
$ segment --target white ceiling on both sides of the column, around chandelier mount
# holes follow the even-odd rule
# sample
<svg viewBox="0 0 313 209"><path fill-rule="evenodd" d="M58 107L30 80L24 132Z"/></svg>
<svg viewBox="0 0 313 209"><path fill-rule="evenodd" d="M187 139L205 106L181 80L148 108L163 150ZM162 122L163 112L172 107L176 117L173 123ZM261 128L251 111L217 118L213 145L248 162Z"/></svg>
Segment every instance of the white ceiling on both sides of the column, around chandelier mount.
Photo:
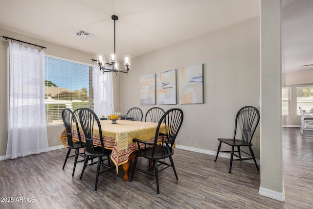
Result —
<svg viewBox="0 0 313 209"><path fill-rule="evenodd" d="M298 70L300 61L301 66L313 63L312 33L307 32L313 1L283 4L283 66ZM259 7L259 0L0 0L0 27L108 56L114 51L111 16L117 15L116 53L122 60L124 54L135 57L257 17ZM74 35L79 29L94 37Z"/></svg>

